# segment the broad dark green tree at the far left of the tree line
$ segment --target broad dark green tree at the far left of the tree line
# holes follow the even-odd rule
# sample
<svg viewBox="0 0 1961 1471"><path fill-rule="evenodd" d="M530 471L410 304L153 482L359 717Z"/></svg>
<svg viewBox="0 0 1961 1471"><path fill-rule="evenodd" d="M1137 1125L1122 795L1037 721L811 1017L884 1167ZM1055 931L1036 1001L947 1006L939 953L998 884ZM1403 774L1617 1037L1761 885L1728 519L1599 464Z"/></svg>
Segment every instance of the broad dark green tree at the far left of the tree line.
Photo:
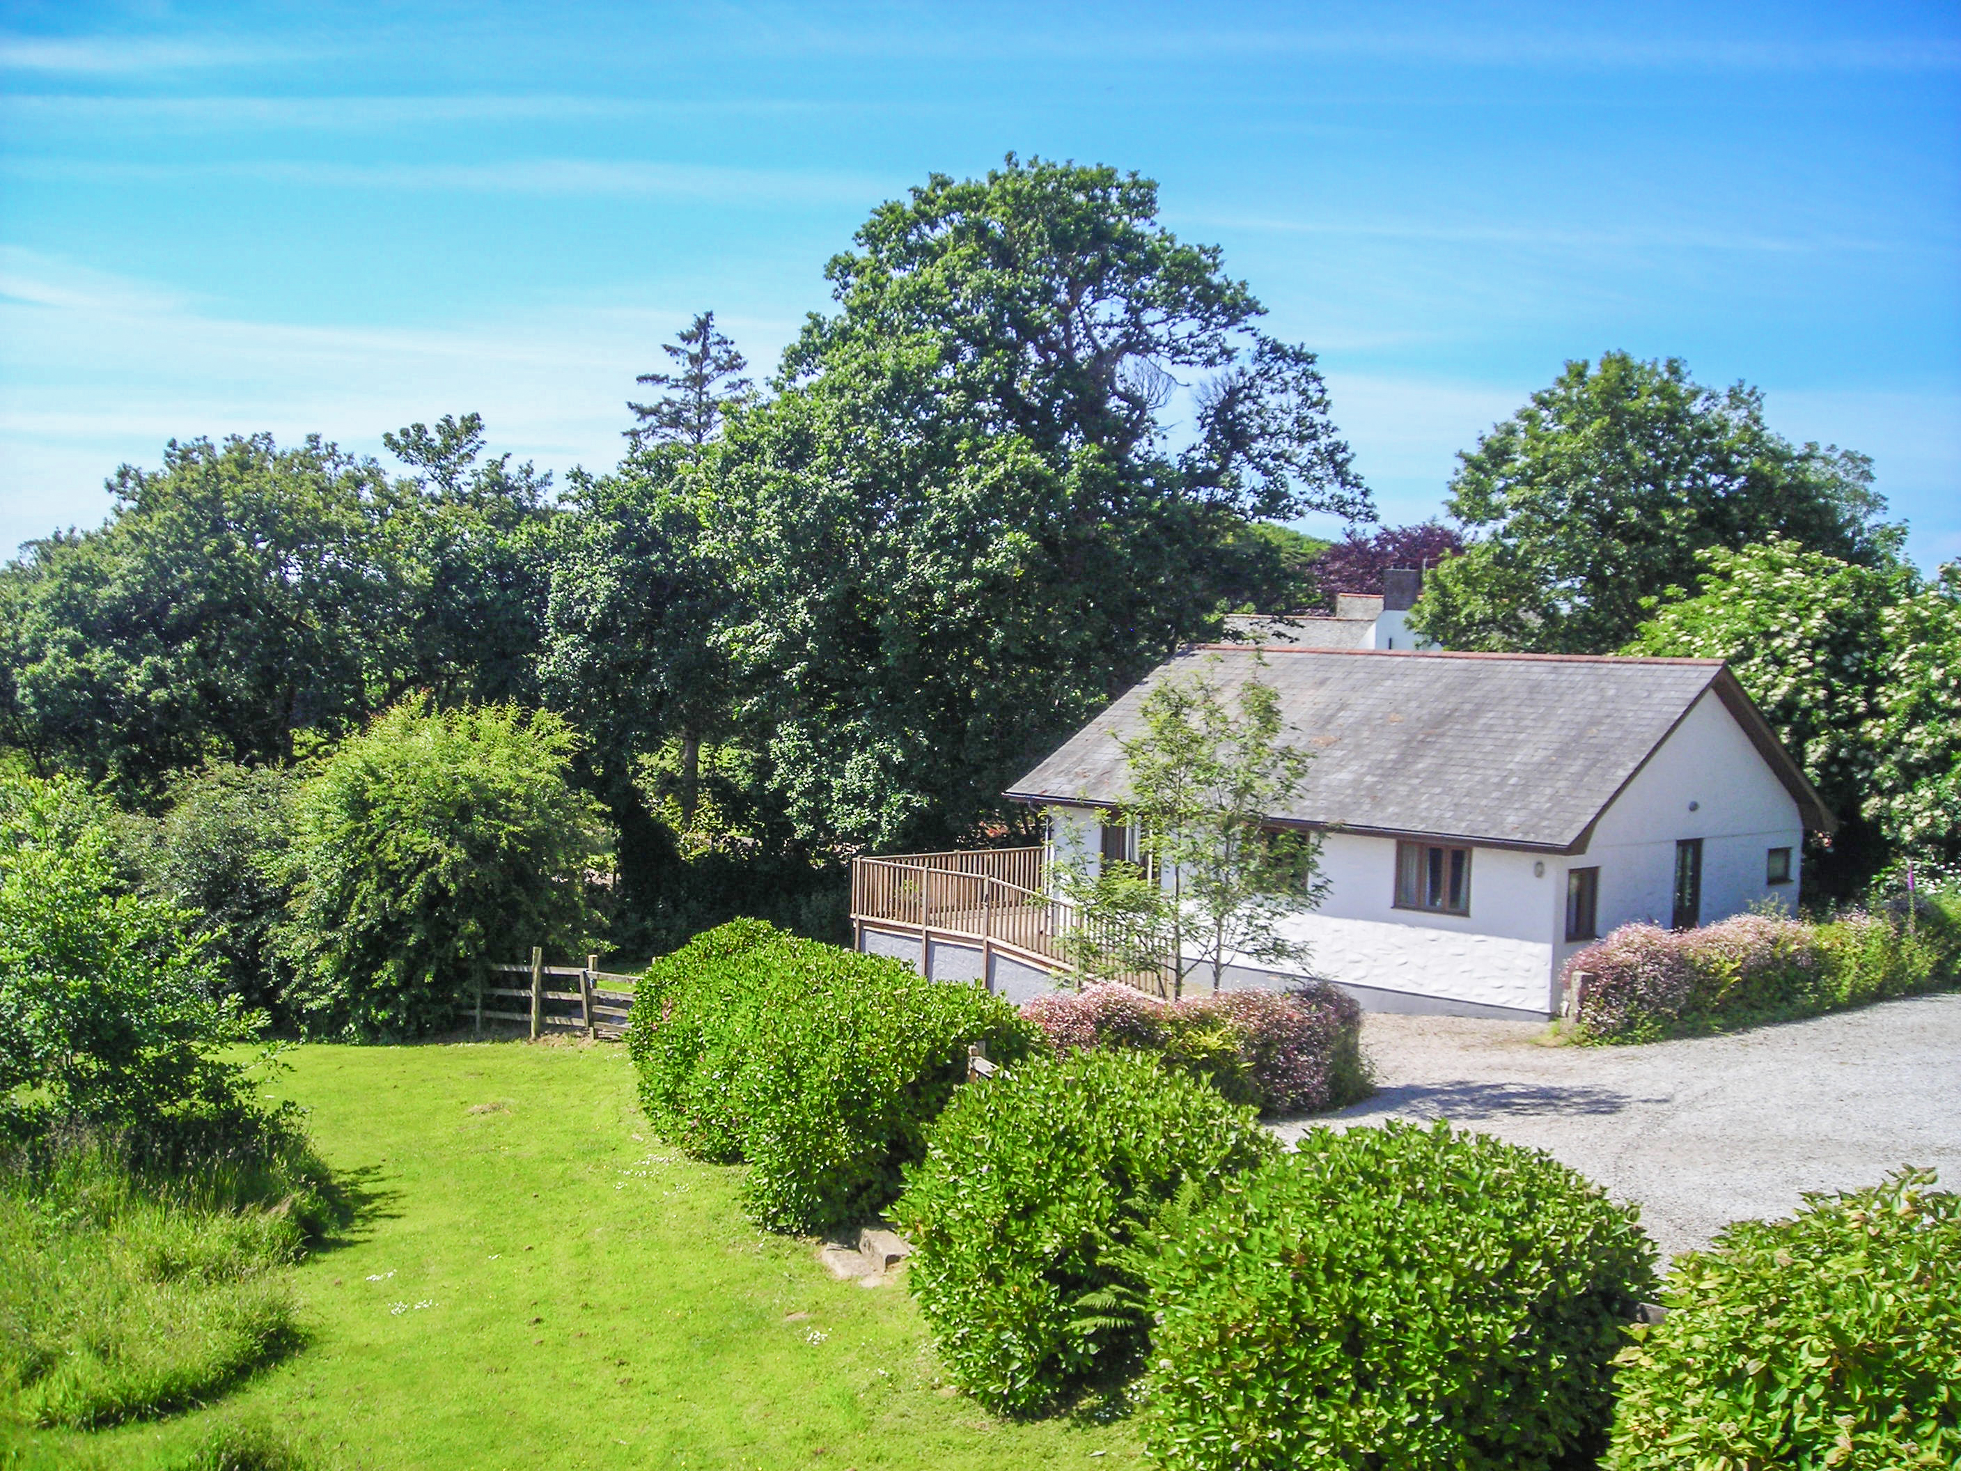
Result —
<svg viewBox="0 0 1961 1471"><path fill-rule="evenodd" d="M208 759L286 761L416 681L402 494L318 437L171 441L96 532L0 573L10 743L124 794Z"/></svg>

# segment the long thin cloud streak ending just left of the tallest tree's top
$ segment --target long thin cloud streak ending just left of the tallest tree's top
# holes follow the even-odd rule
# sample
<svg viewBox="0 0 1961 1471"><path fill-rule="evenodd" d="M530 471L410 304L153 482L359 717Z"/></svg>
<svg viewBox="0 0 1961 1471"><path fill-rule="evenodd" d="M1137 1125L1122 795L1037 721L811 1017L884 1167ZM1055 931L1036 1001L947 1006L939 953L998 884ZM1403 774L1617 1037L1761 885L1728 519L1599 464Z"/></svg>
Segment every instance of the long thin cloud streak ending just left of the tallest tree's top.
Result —
<svg viewBox="0 0 1961 1471"><path fill-rule="evenodd" d="M694 198L722 204L851 204L888 198L902 184L871 175L792 169L726 169L696 163L637 159L508 159L498 163L108 163L96 159L0 159L0 171L22 178L102 182L176 182L243 178L308 188L459 190L480 194L618 194Z"/></svg>

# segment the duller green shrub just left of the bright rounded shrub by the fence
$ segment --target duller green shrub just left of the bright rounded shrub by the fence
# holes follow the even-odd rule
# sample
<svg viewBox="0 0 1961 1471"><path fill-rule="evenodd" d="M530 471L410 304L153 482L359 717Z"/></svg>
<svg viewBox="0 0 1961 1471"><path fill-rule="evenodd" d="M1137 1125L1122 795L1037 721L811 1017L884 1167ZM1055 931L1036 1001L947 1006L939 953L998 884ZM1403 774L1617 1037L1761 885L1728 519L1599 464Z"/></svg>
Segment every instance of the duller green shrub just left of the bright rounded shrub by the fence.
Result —
<svg viewBox="0 0 1961 1471"><path fill-rule="evenodd" d="M137 888L198 914L226 992L275 1016L273 932L292 896L294 786L288 767L210 763L171 783L161 818L129 818L124 834Z"/></svg>

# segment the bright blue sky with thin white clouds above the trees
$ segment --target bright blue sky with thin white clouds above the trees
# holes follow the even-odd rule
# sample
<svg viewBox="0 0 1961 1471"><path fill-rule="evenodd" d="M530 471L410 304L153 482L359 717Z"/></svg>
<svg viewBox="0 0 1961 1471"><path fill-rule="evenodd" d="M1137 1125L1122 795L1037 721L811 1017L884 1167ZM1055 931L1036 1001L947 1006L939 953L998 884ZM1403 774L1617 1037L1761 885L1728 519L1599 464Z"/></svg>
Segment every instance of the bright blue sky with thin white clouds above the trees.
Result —
<svg viewBox="0 0 1961 1471"><path fill-rule="evenodd" d="M1384 520L1602 349L1761 384L1961 557L1961 10L0 4L0 547L175 437L478 410L610 465L879 202L1137 169L1322 353Z"/></svg>

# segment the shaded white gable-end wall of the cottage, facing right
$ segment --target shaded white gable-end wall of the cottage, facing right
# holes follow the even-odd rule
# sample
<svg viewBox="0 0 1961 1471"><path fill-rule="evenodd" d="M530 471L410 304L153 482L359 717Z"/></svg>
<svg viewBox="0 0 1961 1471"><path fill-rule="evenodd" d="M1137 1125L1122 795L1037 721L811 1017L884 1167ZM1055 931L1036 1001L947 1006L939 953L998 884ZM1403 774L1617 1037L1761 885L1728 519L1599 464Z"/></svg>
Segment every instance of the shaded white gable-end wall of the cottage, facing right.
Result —
<svg viewBox="0 0 1961 1471"><path fill-rule="evenodd" d="M1681 837L1702 839L1704 924L1763 900L1785 908L1796 902L1804 853L1798 804L1714 694L1694 704L1614 798L1586 853L1567 859L1569 867L1600 869L1600 934L1635 920L1669 922ZM1788 885L1765 883L1765 855L1773 847L1790 849ZM1565 926L1561 959L1577 949L1563 936Z"/></svg>

